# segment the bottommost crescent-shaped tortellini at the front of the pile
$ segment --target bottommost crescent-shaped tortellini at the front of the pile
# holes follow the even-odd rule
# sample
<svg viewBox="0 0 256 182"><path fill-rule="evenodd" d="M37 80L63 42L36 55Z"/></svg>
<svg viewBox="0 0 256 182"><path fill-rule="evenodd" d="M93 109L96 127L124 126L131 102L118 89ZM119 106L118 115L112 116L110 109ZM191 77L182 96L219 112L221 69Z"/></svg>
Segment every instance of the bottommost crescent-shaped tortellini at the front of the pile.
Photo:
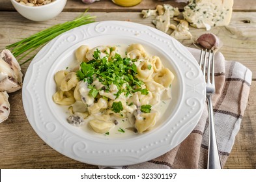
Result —
<svg viewBox="0 0 256 182"><path fill-rule="evenodd" d="M115 124L112 122L103 122L99 120L91 120L89 124L91 125L92 129L97 133L106 133L107 131L109 131L109 129L115 126Z"/></svg>

